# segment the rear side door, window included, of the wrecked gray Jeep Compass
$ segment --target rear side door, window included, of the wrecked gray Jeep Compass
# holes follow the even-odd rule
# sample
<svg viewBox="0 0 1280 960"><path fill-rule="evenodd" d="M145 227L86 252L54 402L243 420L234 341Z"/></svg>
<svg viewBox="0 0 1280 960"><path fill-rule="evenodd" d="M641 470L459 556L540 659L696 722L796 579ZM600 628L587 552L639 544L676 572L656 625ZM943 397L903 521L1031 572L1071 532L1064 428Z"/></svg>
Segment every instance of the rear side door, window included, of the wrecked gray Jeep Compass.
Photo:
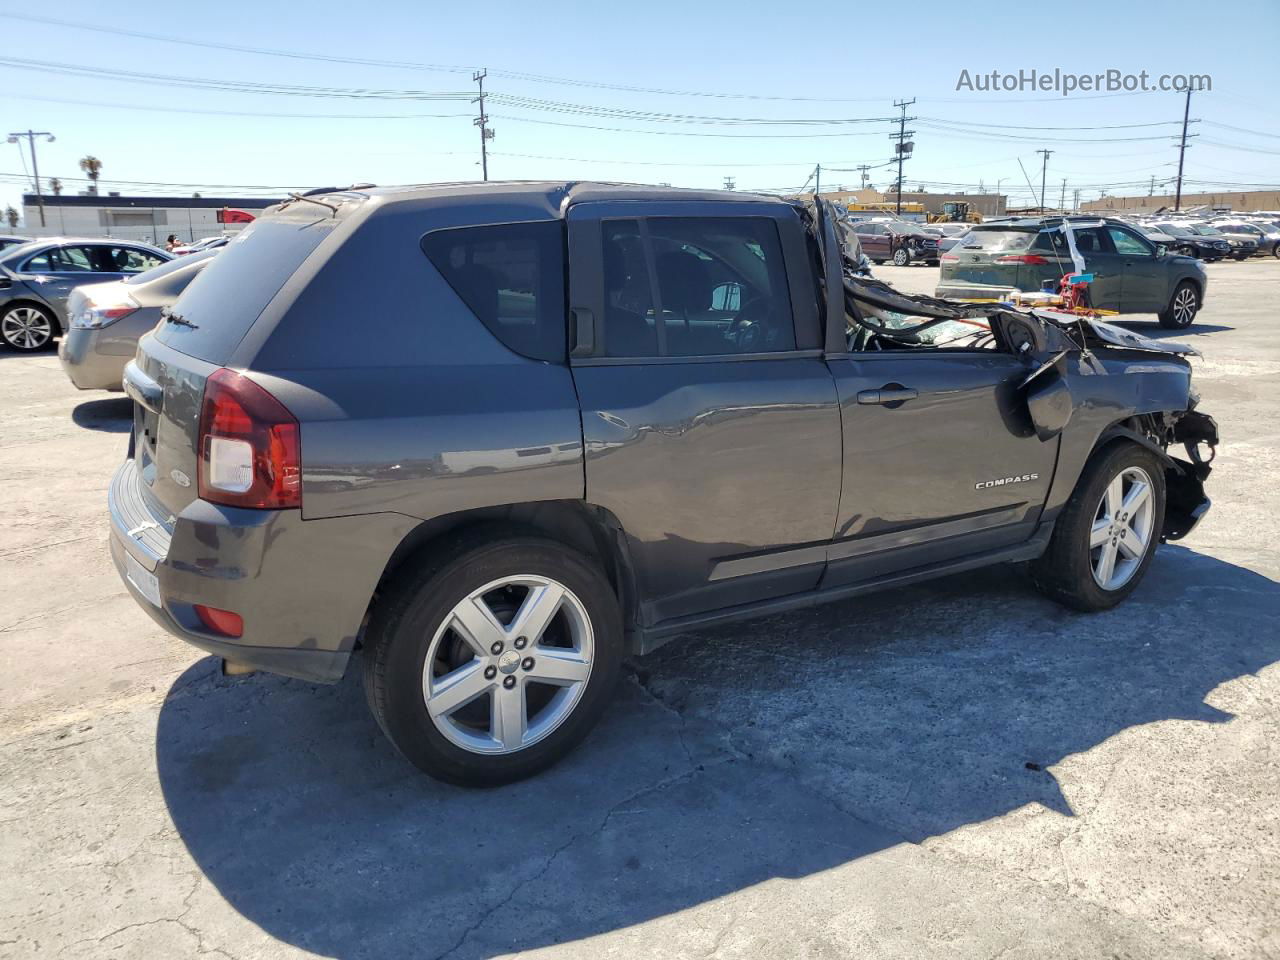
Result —
<svg viewBox="0 0 1280 960"><path fill-rule="evenodd" d="M841 435L795 211L582 202L568 230L586 499L625 531L641 620L813 589Z"/></svg>

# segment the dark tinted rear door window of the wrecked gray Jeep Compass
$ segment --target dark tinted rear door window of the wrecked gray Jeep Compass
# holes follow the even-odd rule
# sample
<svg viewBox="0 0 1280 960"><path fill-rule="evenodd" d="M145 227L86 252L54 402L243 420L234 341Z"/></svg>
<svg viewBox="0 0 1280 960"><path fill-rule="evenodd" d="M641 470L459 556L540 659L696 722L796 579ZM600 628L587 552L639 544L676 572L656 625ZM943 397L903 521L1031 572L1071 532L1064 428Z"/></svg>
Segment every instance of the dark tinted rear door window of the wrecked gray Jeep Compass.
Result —
<svg viewBox="0 0 1280 960"><path fill-rule="evenodd" d="M605 221L604 297L607 356L795 349L782 247L767 218Z"/></svg>

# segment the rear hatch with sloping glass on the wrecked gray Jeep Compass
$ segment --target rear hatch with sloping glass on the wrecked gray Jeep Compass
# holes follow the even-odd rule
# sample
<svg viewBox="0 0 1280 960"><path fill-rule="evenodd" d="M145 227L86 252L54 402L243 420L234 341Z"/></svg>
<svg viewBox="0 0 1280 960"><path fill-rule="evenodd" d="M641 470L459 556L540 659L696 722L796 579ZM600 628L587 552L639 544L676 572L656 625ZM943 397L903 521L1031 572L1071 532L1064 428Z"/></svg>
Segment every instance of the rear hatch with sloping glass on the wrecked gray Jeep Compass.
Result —
<svg viewBox="0 0 1280 960"><path fill-rule="evenodd" d="M259 220L224 247L173 303L168 320L138 342L125 369L137 484L165 525L198 495L205 381L230 362L268 303L340 223L314 211L289 212Z"/></svg>

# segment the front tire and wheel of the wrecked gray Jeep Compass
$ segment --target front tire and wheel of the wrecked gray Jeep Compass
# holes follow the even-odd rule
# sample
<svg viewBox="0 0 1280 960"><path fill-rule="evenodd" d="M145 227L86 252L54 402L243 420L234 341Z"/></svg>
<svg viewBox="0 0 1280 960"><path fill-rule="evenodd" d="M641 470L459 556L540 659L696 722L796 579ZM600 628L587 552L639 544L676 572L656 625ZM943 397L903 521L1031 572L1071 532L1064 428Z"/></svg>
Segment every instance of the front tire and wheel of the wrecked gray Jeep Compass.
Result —
<svg viewBox="0 0 1280 960"><path fill-rule="evenodd" d="M1137 483L1144 484L1146 498L1130 503L1138 495ZM1048 549L1032 561L1032 580L1065 607L1110 609L1142 581L1164 522L1164 465L1151 451L1128 440L1105 447L1080 474ZM1135 539L1142 544L1137 552ZM1111 556L1110 568L1102 564L1103 553Z"/></svg>

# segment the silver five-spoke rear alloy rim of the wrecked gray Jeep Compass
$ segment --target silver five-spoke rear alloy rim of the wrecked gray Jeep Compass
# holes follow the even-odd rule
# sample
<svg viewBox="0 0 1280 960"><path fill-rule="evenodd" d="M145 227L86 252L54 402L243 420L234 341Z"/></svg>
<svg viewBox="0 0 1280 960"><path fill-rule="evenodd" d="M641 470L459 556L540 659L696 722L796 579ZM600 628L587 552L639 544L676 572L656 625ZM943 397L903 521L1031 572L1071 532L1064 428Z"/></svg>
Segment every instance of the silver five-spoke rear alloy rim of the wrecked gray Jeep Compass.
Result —
<svg viewBox="0 0 1280 960"><path fill-rule="evenodd" d="M426 712L463 750L524 750L573 713L594 648L586 608L563 584L536 575L494 580L454 604L431 637Z"/></svg>

